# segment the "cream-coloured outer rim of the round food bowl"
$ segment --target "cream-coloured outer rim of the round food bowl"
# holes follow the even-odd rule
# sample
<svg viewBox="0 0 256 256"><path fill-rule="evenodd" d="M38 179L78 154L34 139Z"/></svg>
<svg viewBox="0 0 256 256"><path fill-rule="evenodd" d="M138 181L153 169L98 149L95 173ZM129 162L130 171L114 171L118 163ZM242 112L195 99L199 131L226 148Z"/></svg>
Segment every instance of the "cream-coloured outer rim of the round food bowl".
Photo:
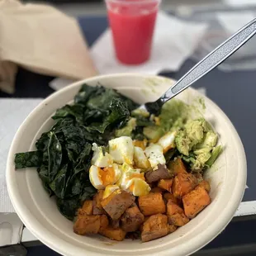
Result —
<svg viewBox="0 0 256 256"><path fill-rule="evenodd" d="M16 135L14 136L12 140L12 145L9 149L9 153L7 156L7 168L6 168L6 180L7 180L7 190L9 193L9 197L12 201L12 205L17 212L17 215L20 217L21 221L26 225L27 229L31 231L33 235L35 235L42 243L49 246L51 249L54 249L59 254L66 255L67 254L67 248L70 248L72 244L70 244L68 241L62 239L62 246L58 246L57 243L54 243L54 239L57 239L57 236L55 234L52 234L49 230L48 234L45 234L45 232L40 232L40 225L37 223L33 224L33 219L35 220L35 217L31 214L30 211L26 211L26 206L23 206L21 201L18 201L16 198L16 194L18 193L18 189L14 186L12 186L12 176L15 175L15 173L12 170L12 155L15 154L14 148L17 144L17 140L19 140L21 130L24 129L26 126L26 123L30 121L31 117L34 116L34 114L41 109L45 105L45 103L49 102L52 98L54 98L56 95L58 95L60 92L68 91L70 87L76 87L78 85L82 85L83 83L88 82L94 82L101 78L124 78L124 77L140 77L140 78L163 78L161 76L157 75L151 75L151 74L143 74L143 73L114 73L114 74L107 74L107 75L99 75L92 78L86 78L83 80L80 80L75 83L71 83L69 86L60 89L57 92L52 93L49 97L46 97L40 104L34 108L33 111L26 117L25 121L22 122L21 126L18 128ZM173 79L168 78L170 81ZM192 89L192 88L191 88ZM194 90L194 89L192 89ZM189 255L194 252L196 252L198 249L201 249L205 244L208 244L211 242L212 239L215 239L217 235L220 234L222 230L225 229L225 226L229 224L230 220L235 215L235 211L237 210L240 201L242 201L242 198L244 196L244 187L246 184L246 178L247 178L247 164L246 164L246 157L244 152L244 146L239 138L239 135L237 131L235 130L235 127L231 123L230 119L225 115L225 113L216 105L215 102L212 102L211 99L209 99L210 102L216 107L216 110L220 112L220 114L225 118L227 123L230 126L230 129L233 132L233 135L235 137L235 142L238 145L237 151L239 155L239 168L241 168L241 173L244 174L244 176L241 176L239 178L239 182L236 183L235 191L233 192L232 196L232 204L228 204L225 207L225 211L222 212L222 218L216 219L216 225L214 228L209 229L209 232L204 237L201 237L201 239L197 240L195 243L190 243L190 248L185 249L184 247L181 248L179 251L177 251L177 255ZM36 222L36 220L34 221ZM194 239L193 239L194 241ZM70 249L69 249L70 252ZM92 253L92 252L91 252ZM159 252L158 254L166 254L168 253L168 249ZM185 254L184 254L185 253ZM98 254L96 252L92 253L93 255L102 255ZM69 255L69 253L67 254ZM139 254L138 254L139 255Z"/></svg>

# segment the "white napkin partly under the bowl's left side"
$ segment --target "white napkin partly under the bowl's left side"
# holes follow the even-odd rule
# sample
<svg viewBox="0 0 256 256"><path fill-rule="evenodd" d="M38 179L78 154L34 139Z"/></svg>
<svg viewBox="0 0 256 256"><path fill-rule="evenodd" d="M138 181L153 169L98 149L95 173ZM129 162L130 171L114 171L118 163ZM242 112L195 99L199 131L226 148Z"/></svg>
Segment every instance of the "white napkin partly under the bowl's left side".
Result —
<svg viewBox="0 0 256 256"><path fill-rule="evenodd" d="M13 136L26 116L41 102L41 99L0 100L0 212L13 212L5 179L7 154Z"/></svg>

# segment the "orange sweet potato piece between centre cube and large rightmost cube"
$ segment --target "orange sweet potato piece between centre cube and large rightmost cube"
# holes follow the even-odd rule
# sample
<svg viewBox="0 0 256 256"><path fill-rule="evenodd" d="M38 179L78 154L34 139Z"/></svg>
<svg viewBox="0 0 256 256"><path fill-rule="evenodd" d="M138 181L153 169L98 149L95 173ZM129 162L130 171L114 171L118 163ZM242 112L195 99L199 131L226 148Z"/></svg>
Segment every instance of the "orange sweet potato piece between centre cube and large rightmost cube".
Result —
<svg viewBox="0 0 256 256"><path fill-rule="evenodd" d="M185 216L183 208L173 203L173 201L169 200L167 204L167 216L168 223L183 226L187 224L189 219Z"/></svg>

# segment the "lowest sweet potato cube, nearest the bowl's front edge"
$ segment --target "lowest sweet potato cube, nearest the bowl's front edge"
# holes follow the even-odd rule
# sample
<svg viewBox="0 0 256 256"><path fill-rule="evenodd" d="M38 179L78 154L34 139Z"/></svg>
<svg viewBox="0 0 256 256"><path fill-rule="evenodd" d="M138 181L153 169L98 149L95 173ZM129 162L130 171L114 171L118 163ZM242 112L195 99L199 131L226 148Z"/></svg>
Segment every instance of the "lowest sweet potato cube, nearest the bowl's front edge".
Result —
<svg viewBox="0 0 256 256"><path fill-rule="evenodd" d="M142 242L148 242L163 237L164 235L168 235L168 232L167 216L164 214L150 216L143 224L141 240Z"/></svg>

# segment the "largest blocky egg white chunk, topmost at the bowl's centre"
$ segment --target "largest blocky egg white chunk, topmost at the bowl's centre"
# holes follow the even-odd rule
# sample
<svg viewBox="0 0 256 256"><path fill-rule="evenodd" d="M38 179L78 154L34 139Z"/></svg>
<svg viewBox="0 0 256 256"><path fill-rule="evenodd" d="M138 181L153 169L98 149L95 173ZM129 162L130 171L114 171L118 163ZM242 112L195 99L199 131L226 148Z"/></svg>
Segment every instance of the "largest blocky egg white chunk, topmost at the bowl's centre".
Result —
<svg viewBox="0 0 256 256"><path fill-rule="evenodd" d="M121 136L119 138L110 140L109 154L117 164L133 164L134 145L128 136Z"/></svg>

